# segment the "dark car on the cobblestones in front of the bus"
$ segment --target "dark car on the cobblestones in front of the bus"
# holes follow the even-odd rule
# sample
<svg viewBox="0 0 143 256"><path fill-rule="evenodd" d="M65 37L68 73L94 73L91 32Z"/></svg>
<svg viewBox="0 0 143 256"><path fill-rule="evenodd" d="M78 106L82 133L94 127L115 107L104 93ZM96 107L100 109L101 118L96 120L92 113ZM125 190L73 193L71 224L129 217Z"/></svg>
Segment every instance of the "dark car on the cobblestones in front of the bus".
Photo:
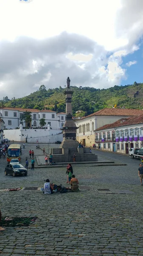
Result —
<svg viewBox="0 0 143 256"><path fill-rule="evenodd" d="M15 177L16 175L27 176L27 169L20 163L11 163L8 164L5 168L5 175L8 174L12 175L13 177Z"/></svg>

